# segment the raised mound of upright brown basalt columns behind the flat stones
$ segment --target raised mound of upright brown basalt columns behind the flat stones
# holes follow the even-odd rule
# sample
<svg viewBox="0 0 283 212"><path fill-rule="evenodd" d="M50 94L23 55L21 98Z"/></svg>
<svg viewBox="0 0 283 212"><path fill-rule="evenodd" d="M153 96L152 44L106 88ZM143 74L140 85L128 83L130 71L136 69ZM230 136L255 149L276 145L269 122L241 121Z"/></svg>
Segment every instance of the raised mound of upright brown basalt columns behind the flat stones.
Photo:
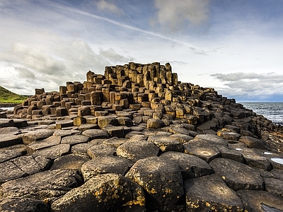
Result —
<svg viewBox="0 0 283 212"><path fill-rule="evenodd" d="M59 87L59 92L36 89L33 97L15 107L14 114L28 119L47 115L56 118L147 107L157 112L155 117L187 119L190 124L200 124L210 119L209 113L200 108L202 100L219 101L219 95L212 88L178 82L177 73L172 73L168 63L130 62L124 66L106 66L104 75L88 71L85 82L67 82Z"/></svg>

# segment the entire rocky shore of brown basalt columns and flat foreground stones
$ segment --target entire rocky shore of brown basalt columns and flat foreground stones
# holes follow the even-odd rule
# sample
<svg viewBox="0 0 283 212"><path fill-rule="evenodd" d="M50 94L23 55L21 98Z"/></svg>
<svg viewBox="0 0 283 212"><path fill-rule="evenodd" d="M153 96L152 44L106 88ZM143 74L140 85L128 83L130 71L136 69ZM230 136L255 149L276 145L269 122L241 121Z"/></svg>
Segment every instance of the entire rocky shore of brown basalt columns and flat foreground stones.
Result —
<svg viewBox="0 0 283 212"><path fill-rule="evenodd" d="M0 211L283 211L283 128L170 64L0 112Z"/></svg>

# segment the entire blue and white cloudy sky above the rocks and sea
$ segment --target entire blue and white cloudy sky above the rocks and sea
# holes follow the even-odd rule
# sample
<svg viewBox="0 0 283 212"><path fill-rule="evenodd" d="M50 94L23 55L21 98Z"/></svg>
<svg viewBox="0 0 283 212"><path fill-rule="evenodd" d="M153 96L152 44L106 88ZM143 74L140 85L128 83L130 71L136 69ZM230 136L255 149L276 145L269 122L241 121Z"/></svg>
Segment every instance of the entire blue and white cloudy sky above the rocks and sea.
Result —
<svg viewBox="0 0 283 212"><path fill-rule="evenodd" d="M19 94L160 61L237 102L283 102L282 57L282 0L0 0L0 86Z"/></svg>

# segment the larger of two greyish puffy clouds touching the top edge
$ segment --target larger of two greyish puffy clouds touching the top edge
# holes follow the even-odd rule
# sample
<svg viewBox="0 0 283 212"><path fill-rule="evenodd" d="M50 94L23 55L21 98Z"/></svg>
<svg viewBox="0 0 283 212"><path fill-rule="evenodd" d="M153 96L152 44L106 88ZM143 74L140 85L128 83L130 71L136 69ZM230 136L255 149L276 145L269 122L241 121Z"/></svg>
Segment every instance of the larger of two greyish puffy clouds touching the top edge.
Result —
<svg viewBox="0 0 283 212"><path fill-rule="evenodd" d="M179 30L190 25L200 25L208 19L208 0L155 0L157 22L170 30Z"/></svg>

